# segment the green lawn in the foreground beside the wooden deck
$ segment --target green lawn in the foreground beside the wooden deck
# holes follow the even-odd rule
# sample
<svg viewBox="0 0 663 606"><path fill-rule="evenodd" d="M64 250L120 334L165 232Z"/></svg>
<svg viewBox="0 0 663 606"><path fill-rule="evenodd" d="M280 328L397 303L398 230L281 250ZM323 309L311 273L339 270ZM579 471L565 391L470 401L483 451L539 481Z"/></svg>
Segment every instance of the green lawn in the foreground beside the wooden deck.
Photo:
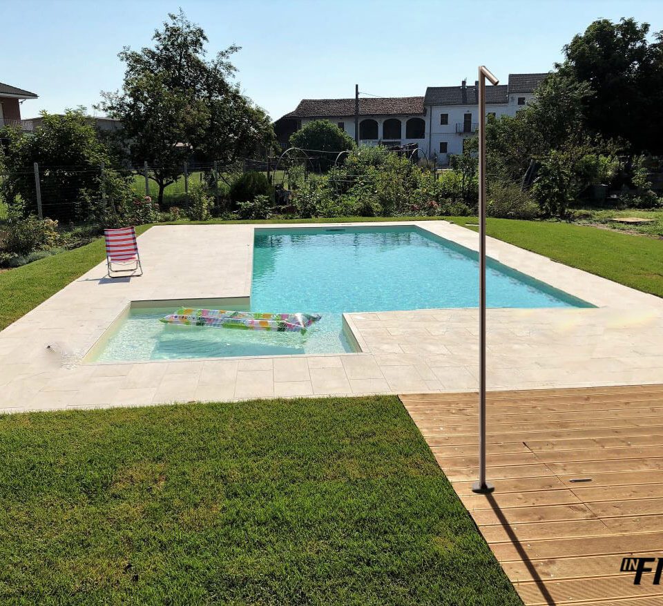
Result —
<svg viewBox="0 0 663 606"><path fill-rule="evenodd" d="M516 605L395 397L0 417L3 604Z"/></svg>

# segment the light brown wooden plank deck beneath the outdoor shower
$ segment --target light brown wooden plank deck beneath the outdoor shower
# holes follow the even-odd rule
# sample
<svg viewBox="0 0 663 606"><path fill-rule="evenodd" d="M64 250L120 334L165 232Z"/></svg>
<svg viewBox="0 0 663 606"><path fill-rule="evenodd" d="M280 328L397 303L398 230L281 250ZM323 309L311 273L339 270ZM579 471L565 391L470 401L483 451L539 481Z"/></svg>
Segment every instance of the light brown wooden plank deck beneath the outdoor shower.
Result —
<svg viewBox="0 0 663 606"><path fill-rule="evenodd" d="M663 557L663 385L489 393L488 496L477 394L401 400L526 605L663 605L620 571Z"/></svg>

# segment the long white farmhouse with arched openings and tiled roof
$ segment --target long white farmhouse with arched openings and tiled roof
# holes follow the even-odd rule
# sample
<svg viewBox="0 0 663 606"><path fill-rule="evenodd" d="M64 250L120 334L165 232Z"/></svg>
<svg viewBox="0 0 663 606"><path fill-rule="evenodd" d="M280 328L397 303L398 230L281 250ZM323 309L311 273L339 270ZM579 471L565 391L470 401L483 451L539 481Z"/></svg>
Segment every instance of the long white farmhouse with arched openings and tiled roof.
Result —
<svg viewBox="0 0 663 606"><path fill-rule="evenodd" d="M486 113L513 116L534 98L548 74L510 74L508 84L486 87ZM478 128L478 81L468 86L429 86L423 97L361 97L359 143L416 146L419 157L448 164L463 151L463 141ZM307 122L327 119L354 138L354 99L302 99L297 108L274 123L282 147Z"/></svg>

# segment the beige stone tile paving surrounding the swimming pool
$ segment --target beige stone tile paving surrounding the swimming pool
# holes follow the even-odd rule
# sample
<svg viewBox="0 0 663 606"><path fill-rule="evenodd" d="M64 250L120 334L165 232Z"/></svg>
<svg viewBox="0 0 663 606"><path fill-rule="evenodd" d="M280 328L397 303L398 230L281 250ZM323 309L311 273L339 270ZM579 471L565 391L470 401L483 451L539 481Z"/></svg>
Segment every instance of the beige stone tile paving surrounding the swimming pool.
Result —
<svg viewBox="0 0 663 606"><path fill-rule="evenodd" d="M358 225L416 225L478 248L443 221ZM109 280L99 264L1 331L0 411L476 389L476 309L346 314L361 353L84 362L132 301L249 297L254 228L153 227L138 240L142 277ZM489 309L489 389L663 382L663 300L492 238L488 255L597 306Z"/></svg>

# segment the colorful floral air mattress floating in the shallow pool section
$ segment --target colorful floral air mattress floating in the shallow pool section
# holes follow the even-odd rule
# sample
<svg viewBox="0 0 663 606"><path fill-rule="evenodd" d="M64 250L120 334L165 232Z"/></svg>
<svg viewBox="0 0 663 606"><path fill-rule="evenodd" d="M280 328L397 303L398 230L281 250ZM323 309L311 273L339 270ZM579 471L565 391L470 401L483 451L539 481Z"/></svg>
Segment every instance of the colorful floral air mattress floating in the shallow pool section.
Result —
<svg viewBox="0 0 663 606"><path fill-rule="evenodd" d="M253 311L180 307L175 313L161 317L160 321L166 324L182 324L184 326L295 332L303 335L311 324L320 320L320 317L318 313L256 313Z"/></svg>

